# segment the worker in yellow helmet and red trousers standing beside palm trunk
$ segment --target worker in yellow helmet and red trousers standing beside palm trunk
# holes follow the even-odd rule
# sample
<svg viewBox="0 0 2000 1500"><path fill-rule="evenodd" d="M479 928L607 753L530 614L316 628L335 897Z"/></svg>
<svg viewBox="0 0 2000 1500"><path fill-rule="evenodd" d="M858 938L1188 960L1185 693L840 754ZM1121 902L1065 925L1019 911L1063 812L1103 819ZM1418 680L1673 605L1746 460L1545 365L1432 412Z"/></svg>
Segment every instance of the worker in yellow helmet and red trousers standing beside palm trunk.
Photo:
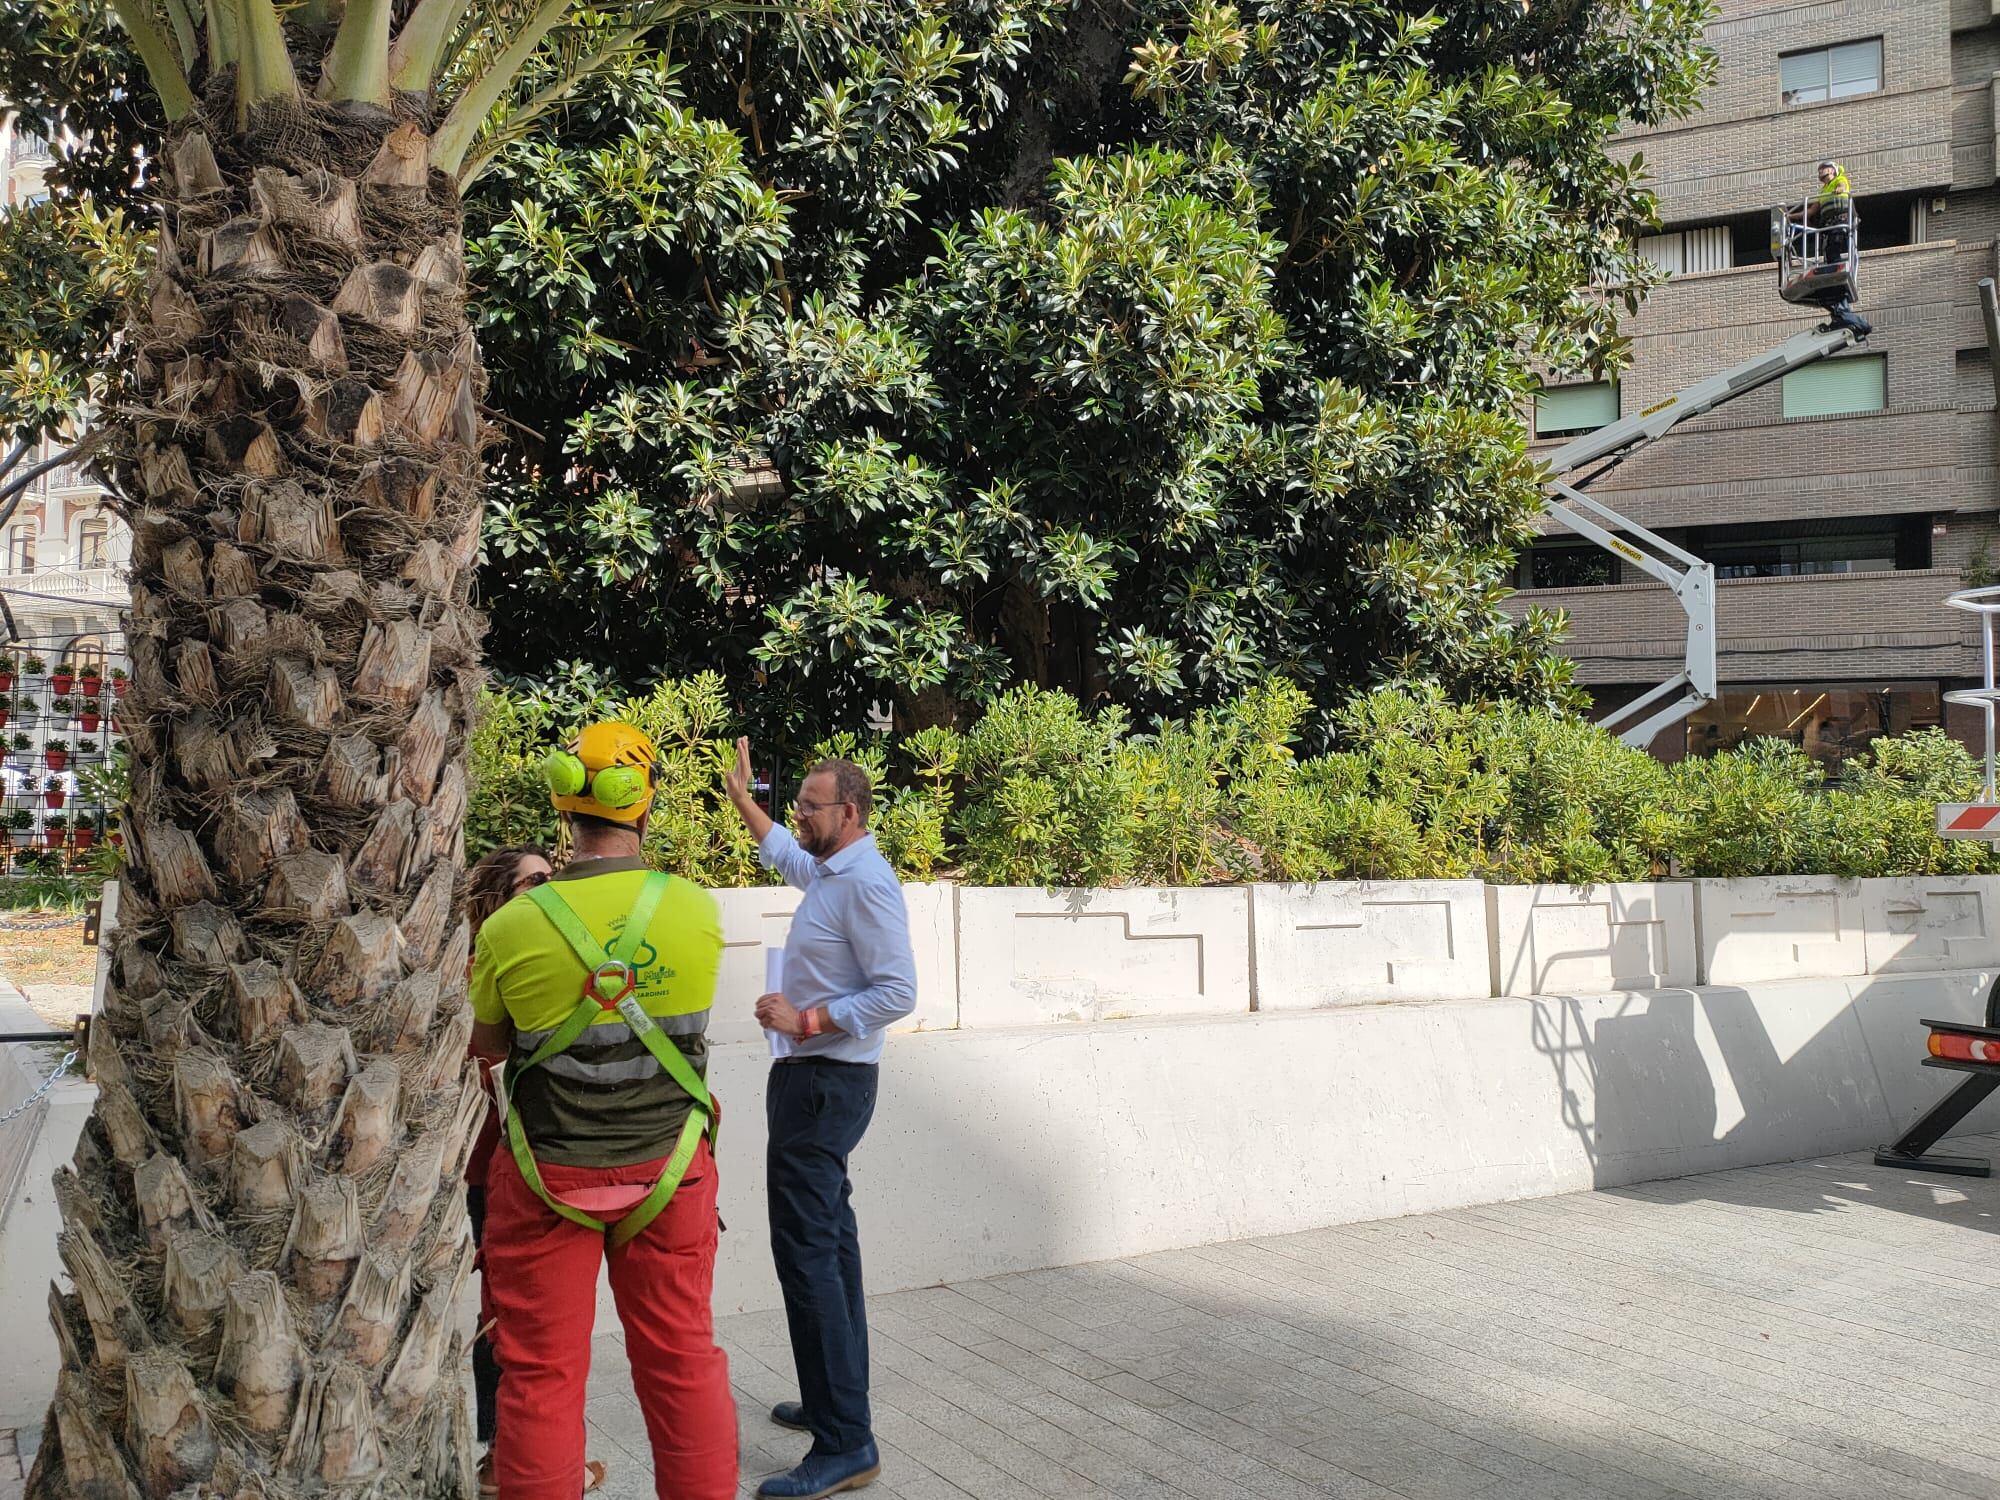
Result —
<svg viewBox="0 0 2000 1500"><path fill-rule="evenodd" d="M472 956L472 1044L504 1062L484 1238L498 1500L578 1496L604 1262L658 1500L732 1500L736 1404L708 1308L722 918L640 856L660 778L644 732L590 724L544 776L574 858L486 918Z"/></svg>

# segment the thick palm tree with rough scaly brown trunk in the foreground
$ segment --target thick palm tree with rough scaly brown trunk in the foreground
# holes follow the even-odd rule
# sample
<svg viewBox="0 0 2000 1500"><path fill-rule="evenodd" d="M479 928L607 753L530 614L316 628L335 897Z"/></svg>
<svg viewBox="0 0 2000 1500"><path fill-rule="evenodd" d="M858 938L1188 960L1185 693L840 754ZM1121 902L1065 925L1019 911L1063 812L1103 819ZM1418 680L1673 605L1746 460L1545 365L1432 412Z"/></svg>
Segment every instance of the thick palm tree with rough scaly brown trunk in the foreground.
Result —
<svg viewBox="0 0 2000 1500"><path fill-rule="evenodd" d="M130 866L38 1496L472 1492L460 194L676 4L114 0L158 110L96 160L144 166L154 240L100 458L134 538ZM76 62L36 46L8 66Z"/></svg>

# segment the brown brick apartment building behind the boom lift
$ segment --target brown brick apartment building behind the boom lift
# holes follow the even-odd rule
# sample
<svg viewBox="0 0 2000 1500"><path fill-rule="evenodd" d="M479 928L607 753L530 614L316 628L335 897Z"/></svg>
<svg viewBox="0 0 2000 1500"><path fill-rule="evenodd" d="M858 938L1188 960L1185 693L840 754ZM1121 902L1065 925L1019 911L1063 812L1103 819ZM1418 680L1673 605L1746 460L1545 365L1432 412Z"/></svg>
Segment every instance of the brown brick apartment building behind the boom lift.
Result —
<svg viewBox="0 0 2000 1500"><path fill-rule="evenodd" d="M1648 164L1674 272L1626 332L1616 384L1562 386L1538 448L1640 412L1814 326L1778 298L1770 208L1842 160L1860 216L1862 350L1794 372L1644 448L1590 494L1716 566L1720 698L1654 740L1668 760L1790 738L1828 762L1976 714L1978 638L1942 600L2000 582L1994 384L1978 282L1996 276L2000 0L1722 0L1704 110L1626 140ZM1552 532L1520 602L1572 614L1578 680L1606 708L1672 676L1664 588ZM1960 720L1964 714L1964 720Z"/></svg>

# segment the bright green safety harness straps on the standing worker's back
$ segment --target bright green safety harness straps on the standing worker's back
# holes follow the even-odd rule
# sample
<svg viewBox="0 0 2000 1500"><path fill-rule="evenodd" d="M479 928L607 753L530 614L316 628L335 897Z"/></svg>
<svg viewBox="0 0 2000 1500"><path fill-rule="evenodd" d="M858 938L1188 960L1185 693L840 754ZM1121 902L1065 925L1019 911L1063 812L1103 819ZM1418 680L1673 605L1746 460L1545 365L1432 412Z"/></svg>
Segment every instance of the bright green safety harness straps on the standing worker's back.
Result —
<svg viewBox="0 0 2000 1500"><path fill-rule="evenodd" d="M570 908L554 884L540 884L528 892L542 916L550 920L562 940L570 944L576 956L590 970L590 978L584 980L584 998L576 1002L576 1010L558 1026L534 1054L520 1064L520 1068L508 1068L502 1074L504 1086L500 1096L500 1112L506 1120L506 1144L514 1152L514 1164L520 1168L522 1180L534 1188L536 1198L548 1204L554 1212L564 1218L582 1224L584 1228L608 1232L612 1236L612 1248L618 1248L638 1234L644 1232L652 1220L660 1216L660 1210L674 1198L680 1188L680 1180L688 1174L688 1164L694 1160L694 1152L708 1136L714 1142L714 1118L716 1104L708 1094L708 1084L702 1076L694 1072L694 1064L688 1056L674 1046L666 1034L654 1024L646 1008L640 1006L636 984L638 970L632 966L634 956L646 942L646 928L652 926L652 914L660 910L660 898L666 896L668 876L648 874L646 884L640 886L638 900L632 902L632 914L626 916L624 932L606 950L584 926L582 918ZM622 970L620 992L608 996L604 992L604 980L614 972ZM512 1076L522 1076L530 1068L538 1068L562 1052L568 1052L570 1044L606 1010L616 1010L632 1034L644 1042L646 1050L652 1052L654 1062L672 1078L680 1088L694 1100L694 1108L688 1112L688 1122L680 1128L680 1142L674 1146L674 1154L666 1158L666 1166L660 1170L660 1180L652 1184L648 1192L628 1214L624 1214L616 1224L606 1224L600 1218L586 1214L582 1208L572 1208L570 1204L556 1198L542 1184L542 1170L534 1162L534 1152L528 1148L528 1132L522 1130L520 1112L514 1110Z"/></svg>

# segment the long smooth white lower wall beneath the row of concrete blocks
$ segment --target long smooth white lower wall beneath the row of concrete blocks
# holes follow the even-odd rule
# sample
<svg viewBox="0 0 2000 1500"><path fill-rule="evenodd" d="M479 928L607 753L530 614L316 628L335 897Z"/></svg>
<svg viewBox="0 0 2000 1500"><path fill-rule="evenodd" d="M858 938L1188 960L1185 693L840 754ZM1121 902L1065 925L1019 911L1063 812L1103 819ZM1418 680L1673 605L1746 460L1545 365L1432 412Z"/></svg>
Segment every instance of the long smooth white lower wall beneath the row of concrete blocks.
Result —
<svg viewBox="0 0 2000 1500"><path fill-rule="evenodd" d="M854 1156L868 1284L1868 1150L1960 1080L1992 970L898 1036ZM710 1078L720 1312L770 1308L762 1052ZM1964 1124L2000 1130L2000 1096Z"/></svg>

